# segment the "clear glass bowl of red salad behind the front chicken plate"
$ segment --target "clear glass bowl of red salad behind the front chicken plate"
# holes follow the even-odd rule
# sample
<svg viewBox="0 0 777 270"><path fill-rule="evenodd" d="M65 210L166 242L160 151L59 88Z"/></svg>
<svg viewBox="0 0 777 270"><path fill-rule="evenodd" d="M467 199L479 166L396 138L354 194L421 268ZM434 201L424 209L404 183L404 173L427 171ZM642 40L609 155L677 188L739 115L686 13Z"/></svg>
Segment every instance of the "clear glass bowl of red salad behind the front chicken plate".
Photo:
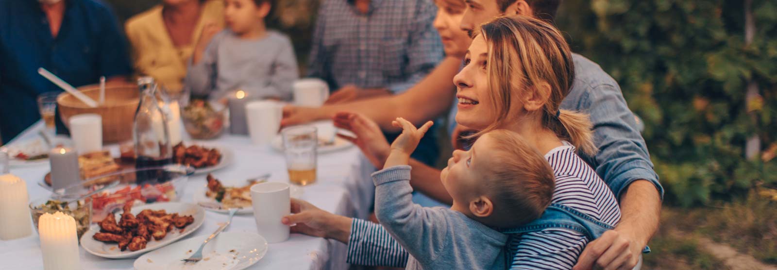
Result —
<svg viewBox="0 0 777 270"><path fill-rule="evenodd" d="M193 172L193 168L179 164L128 169L100 175L58 192L81 196L94 192L95 194L89 197L92 222L99 222L108 214L120 211L127 202L134 201L135 206L154 202L178 202L186 189L186 183L189 182L189 175ZM141 181L138 182L139 178Z"/></svg>

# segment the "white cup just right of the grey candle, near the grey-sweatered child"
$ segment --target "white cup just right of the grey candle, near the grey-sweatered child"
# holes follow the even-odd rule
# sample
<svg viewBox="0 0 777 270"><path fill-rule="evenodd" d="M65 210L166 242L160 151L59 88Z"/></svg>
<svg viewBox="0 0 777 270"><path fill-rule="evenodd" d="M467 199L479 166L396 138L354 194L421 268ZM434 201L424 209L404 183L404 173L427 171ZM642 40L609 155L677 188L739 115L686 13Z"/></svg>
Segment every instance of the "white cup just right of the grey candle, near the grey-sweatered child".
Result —
<svg viewBox="0 0 777 270"><path fill-rule="evenodd" d="M267 145L273 141L283 118L283 104L269 100L257 100L246 104L246 122L251 141Z"/></svg>

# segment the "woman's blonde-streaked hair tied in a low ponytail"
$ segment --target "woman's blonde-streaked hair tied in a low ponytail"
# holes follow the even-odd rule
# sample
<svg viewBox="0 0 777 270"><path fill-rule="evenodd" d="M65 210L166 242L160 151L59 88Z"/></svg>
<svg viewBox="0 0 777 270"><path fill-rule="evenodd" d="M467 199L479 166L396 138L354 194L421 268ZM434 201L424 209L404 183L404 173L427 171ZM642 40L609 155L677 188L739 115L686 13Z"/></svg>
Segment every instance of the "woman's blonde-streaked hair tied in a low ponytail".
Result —
<svg viewBox="0 0 777 270"><path fill-rule="evenodd" d="M510 112L513 95L530 95L535 85L550 85L550 96L542 113L542 125L569 140L584 154L596 154L588 115L559 109L570 93L575 77L572 52L556 27L527 16L502 16L480 26L488 44L489 58L486 72L490 83L491 102L497 121L481 130L475 137L514 121Z"/></svg>

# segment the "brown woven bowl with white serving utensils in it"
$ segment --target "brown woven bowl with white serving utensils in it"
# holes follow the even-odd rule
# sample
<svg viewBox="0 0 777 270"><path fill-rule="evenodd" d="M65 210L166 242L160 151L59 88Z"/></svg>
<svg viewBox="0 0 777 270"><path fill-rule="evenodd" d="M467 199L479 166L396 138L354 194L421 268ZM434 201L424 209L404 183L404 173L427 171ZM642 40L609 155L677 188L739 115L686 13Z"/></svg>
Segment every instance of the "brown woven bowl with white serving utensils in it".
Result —
<svg viewBox="0 0 777 270"><path fill-rule="evenodd" d="M79 91L99 101L99 85L86 85ZM62 122L70 128L71 116L95 113L103 117L103 143L119 143L132 140L132 123L140 103L138 85L112 85L105 88L105 104L90 108L68 92L57 97Z"/></svg>

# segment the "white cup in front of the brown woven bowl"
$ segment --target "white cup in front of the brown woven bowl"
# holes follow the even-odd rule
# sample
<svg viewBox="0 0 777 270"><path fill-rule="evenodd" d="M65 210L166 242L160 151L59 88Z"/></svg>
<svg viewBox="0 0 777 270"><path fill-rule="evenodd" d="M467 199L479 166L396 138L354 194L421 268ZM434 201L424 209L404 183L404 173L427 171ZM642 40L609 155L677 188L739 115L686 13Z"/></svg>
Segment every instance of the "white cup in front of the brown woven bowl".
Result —
<svg viewBox="0 0 777 270"><path fill-rule="evenodd" d="M103 151L103 117L94 113L71 116L70 137L78 154Z"/></svg>

